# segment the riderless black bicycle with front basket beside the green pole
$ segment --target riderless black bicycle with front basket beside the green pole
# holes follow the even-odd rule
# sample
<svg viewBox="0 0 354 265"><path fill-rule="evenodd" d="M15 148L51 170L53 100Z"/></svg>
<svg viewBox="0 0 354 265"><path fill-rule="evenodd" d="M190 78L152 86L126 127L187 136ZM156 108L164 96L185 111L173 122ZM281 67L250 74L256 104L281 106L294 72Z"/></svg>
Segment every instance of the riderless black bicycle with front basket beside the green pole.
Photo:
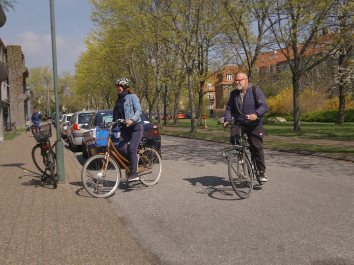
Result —
<svg viewBox="0 0 354 265"><path fill-rule="evenodd" d="M37 145L32 149L32 159L36 168L43 174L41 181L44 182L48 177L51 178L53 187L57 187L57 179L55 173L56 156L53 151L57 142L62 141L58 139L54 144L50 145L49 138L51 137L51 126L45 124L42 126L32 126L32 134L34 135ZM49 173L47 173L49 171Z"/></svg>

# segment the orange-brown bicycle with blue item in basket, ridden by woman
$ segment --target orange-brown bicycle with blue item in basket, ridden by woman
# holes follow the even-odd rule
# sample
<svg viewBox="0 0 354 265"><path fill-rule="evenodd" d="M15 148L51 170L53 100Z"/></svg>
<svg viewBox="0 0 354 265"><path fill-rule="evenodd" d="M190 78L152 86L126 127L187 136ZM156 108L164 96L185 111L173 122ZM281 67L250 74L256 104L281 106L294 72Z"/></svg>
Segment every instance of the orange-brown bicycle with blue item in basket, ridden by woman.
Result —
<svg viewBox="0 0 354 265"><path fill-rule="evenodd" d="M87 159L84 163L81 180L84 188L94 197L105 198L112 195L117 189L122 178L121 167L128 178L131 173L131 164L113 145L112 128L118 122L125 123L125 120L118 119L107 124L108 129L93 129L83 134L86 146L106 146L105 153L99 153ZM159 152L152 147L154 140L143 140L138 147L138 175L139 180L146 186L152 186L159 182L162 174L162 161Z"/></svg>

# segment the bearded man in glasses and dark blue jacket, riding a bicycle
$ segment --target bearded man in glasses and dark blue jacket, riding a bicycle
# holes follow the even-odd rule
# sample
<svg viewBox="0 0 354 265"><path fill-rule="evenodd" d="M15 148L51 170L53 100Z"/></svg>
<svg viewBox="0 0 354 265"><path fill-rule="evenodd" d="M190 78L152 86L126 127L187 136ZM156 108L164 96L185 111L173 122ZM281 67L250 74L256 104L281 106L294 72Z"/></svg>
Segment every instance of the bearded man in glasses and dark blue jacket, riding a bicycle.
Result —
<svg viewBox="0 0 354 265"><path fill-rule="evenodd" d="M263 152L263 137L264 129L261 117L268 110L267 102L265 101L262 90L252 86L248 82L248 77L245 73L238 73L235 76L235 84L237 89L230 93L229 101L226 105L224 124L226 128L231 122L233 116L235 123L241 124L242 134L246 133L250 140L250 151L255 158L259 177L261 182L268 181L265 176L265 163ZM239 137L240 125L234 126L231 129L230 142L238 144L236 139Z"/></svg>

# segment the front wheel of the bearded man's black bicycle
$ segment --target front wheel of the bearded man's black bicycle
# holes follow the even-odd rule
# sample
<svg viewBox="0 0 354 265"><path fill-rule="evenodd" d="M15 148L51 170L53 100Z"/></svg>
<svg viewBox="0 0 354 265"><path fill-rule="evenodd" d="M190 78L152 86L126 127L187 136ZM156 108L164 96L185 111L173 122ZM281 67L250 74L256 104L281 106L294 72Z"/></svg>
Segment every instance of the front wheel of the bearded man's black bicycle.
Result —
<svg viewBox="0 0 354 265"><path fill-rule="evenodd" d="M240 198L247 198L253 189L253 172L248 159L238 153L228 157L228 175L231 186Z"/></svg>

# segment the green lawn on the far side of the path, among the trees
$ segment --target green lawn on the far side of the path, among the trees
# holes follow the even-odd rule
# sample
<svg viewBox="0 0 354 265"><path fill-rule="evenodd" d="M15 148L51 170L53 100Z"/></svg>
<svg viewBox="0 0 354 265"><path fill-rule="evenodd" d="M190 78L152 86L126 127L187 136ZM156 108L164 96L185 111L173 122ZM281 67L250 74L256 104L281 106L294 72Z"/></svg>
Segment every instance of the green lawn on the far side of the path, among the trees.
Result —
<svg viewBox="0 0 354 265"><path fill-rule="evenodd" d="M215 118L207 119L206 124L208 125L208 130L223 130L222 125L219 125ZM164 129L168 129L168 126L173 125L166 125ZM173 127L190 128L190 126L191 120L179 120L179 125ZM202 126L199 128L202 128ZM328 122L301 122L301 134L296 134L292 131L292 122L264 124L264 129L265 134L270 136L354 141L354 122L347 122L344 125Z"/></svg>

